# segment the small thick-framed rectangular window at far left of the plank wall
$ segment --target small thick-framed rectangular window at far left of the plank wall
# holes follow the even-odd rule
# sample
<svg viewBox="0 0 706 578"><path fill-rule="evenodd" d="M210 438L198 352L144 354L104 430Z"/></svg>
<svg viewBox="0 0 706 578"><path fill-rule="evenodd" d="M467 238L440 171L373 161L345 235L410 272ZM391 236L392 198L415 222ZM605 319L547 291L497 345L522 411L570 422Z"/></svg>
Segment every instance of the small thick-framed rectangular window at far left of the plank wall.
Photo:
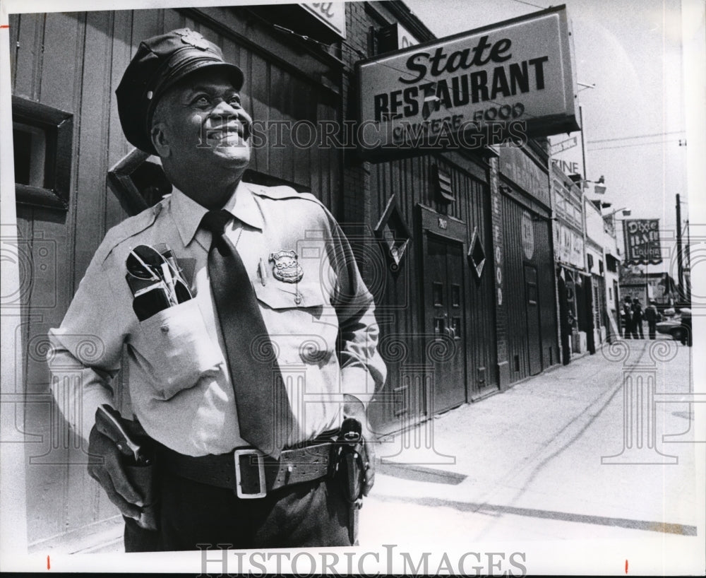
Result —
<svg viewBox="0 0 706 578"><path fill-rule="evenodd" d="M66 210L73 114L13 96L12 117L16 201Z"/></svg>

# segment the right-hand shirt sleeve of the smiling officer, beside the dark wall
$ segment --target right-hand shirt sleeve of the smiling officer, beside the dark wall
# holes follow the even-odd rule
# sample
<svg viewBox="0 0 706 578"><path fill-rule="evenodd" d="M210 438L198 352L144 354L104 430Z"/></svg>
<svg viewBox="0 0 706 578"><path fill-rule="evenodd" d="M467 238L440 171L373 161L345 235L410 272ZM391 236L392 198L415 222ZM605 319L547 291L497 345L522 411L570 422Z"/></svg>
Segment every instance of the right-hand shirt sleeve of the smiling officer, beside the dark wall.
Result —
<svg viewBox="0 0 706 578"><path fill-rule="evenodd" d="M333 305L339 325L342 392L368 403L387 375L385 362L378 353L380 330L373 295L361 277L340 225L325 212L331 230L329 258L336 276Z"/></svg>

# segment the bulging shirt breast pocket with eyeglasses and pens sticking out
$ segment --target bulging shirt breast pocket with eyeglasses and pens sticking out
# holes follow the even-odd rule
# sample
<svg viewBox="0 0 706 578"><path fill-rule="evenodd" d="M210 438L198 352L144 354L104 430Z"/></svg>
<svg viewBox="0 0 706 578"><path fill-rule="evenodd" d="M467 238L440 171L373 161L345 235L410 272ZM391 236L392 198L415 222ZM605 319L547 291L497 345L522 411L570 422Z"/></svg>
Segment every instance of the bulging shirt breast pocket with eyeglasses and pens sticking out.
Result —
<svg viewBox="0 0 706 578"><path fill-rule="evenodd" d="M217 374L223 361L194 299L141 322L133 349L143 358L152 385L164 400L195 386L205 375Z"/></svg>

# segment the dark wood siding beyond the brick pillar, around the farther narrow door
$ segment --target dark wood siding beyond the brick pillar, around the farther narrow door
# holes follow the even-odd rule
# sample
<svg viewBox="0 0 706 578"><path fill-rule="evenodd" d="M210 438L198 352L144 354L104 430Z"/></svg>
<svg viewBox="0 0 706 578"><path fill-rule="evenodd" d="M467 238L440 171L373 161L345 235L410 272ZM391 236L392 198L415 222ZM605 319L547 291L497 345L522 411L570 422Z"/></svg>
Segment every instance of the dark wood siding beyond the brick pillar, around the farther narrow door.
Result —
<svg viewBox="0 0 706 578"><path fill-rule="evenodd" d="M510 382L530 377L530 351L527 344L527 295L525 291L525 264L537 268L539 297L539 331L542 351L542 370L558 362L556 336L556 305L554 289L554 255L549 232L549 220L532 215L534 254L527 259L522 250L522 213L527 211L519 203L503 195L503 241L505 244L503 300L507 303L509 327L508 361Z"/></svg>

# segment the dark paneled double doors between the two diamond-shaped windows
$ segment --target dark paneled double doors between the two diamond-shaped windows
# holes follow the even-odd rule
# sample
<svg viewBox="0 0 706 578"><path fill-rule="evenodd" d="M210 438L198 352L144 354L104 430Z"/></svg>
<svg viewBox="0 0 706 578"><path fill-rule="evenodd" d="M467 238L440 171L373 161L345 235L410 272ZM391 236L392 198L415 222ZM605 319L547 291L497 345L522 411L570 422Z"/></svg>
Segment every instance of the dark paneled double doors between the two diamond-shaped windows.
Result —
<svg viewBox="0 0 706 578"><path fill-rule="evenodd" d="M427 362L433 364L430 413L466 401L465 294L462 244L427 233L424 266L424 317Z"/></svg>

